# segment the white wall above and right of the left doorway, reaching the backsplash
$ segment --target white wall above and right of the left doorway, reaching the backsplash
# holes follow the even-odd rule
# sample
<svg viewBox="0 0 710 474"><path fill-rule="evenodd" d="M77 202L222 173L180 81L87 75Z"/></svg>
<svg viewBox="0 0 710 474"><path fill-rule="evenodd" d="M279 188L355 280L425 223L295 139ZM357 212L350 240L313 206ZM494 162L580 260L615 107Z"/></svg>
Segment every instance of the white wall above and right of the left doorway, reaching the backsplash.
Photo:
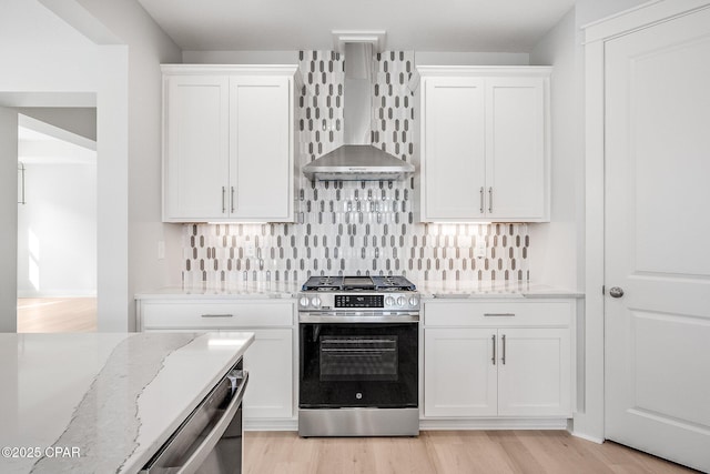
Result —
<svg viewBox="0 0 710 474"><path fill-rule="evenodd" d="M98 108L100 331L132 329L135 290L180 275L180 228L160 222L159 65L180 59L135 0L3 0L0 104Z"/></svg>

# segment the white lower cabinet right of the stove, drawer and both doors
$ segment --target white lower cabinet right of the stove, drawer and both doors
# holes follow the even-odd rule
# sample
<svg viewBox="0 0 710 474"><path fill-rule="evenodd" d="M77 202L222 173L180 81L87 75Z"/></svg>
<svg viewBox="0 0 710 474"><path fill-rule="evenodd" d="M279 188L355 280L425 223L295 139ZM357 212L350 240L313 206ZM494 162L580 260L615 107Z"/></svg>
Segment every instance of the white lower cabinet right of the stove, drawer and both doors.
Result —
<svg viewBox="0 0 710 474"><path fill-rule="evenodd" d="M426 303L424 417L570 417L574 307Z"/></svg>

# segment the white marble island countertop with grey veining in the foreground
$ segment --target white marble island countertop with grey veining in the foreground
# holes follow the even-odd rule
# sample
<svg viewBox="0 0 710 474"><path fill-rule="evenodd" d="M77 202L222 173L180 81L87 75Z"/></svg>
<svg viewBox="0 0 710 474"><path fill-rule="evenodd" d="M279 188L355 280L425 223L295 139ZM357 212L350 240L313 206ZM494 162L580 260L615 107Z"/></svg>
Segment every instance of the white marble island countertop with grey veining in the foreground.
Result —
<svg viewBox="0 0 710 474"><path fill-rule="evenodd" d="M0 334L0 472L138 472L253 340Z"/></svg>

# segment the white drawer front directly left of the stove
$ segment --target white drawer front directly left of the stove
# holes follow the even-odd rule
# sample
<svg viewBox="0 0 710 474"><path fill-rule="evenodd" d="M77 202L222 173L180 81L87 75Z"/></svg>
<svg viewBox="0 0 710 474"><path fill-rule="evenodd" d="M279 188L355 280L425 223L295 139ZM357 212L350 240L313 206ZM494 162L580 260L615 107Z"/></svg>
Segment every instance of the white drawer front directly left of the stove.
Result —
<svg viewBox="0 0 710 474"><path fill-rule="evenodd" d="M293 325L291 302L170 302L141 303L142 330L231 329Z"/></svg>

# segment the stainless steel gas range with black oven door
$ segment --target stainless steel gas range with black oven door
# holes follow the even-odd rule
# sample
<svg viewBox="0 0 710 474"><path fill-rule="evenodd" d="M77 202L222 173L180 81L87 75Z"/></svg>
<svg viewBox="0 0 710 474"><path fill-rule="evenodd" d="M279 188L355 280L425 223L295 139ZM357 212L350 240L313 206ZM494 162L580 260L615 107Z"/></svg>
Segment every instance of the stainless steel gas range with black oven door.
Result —
<svg viewBox="0 0 710 474"><path fill-rule="evenodd" d="M298 297L301 436L419 434L419 294L404 276L312 276Z"/></svg>

